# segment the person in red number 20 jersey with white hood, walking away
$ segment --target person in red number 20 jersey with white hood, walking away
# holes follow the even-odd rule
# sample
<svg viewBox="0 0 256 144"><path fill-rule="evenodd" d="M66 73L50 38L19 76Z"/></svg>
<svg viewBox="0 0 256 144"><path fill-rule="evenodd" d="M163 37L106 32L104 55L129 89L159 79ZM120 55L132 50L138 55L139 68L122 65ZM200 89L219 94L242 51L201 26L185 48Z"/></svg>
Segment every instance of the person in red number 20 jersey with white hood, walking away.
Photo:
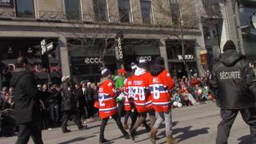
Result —
<svg viewBox="0 0 256 144"><path fill-rule="evenodd" d="M150 127L154 125L155 117L154 117L154 110L149 110L150 105L152 102L149 101L150 99L150 73L147 72L149 68L148 63L145 59L141 59L139 61L138 68L135 70L134 75L132 76L132 96L134 97L134 104L135 108L138 111L138 119L135 122L134 126L130 130L130 136L134 140L135 132L142 124L146 126L146 129L149 131ZM148 126L145 122L147 112L150 114L150 126Z"/></svg>

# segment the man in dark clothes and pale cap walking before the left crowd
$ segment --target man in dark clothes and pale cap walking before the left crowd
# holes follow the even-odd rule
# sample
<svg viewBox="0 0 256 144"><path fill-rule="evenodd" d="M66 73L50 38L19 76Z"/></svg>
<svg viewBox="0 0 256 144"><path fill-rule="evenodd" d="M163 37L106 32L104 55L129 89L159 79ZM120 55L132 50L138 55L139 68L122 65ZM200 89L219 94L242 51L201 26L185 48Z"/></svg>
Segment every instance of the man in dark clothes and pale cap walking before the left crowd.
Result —
<svg viewBox="0 0 256 144"><path fill-rule="evenodd" d="M73 94L72 86L70 84L70 77L62 77L61 85L61 94L62 94L62 133L68 133L67 122L70 117L73 118L74 122L78 126L78 130L83 130L82 122L78 119L77 114L75 114L76 101Z"/></svg>

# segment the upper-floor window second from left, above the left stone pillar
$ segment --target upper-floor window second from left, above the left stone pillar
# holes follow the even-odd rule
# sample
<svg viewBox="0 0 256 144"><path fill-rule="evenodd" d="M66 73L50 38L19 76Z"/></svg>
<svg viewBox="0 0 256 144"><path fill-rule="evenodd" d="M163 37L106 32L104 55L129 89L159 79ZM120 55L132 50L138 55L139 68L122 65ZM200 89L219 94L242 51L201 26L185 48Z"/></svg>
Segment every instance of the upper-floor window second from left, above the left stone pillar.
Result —
<svg viewBox="0 0 256 144"><path fill-rule="evenodd" d="M66 18L70 20L81 19L80 0L65 0Z"/></svg>

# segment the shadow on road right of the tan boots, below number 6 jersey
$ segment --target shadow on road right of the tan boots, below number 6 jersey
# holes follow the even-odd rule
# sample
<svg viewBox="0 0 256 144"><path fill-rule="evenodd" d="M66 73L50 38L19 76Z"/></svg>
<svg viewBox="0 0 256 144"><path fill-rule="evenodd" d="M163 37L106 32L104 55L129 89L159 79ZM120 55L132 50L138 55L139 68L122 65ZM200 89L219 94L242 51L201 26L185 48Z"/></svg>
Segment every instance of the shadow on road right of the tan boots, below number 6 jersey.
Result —
<svg viewBox="0 0 256 144"><path fill-rule="evenodd" d="M174 129L173 130L173 134L179 134L177 137L175 137L175 139L178 141L178 142L182 142L186 139L189 139L189 138L194 138L200 134L208 134L209 133L209 127L206 127L206 128L202 128L202 129L198 129L198 130L190 130L192 128L192 126L186 126L184 128L177 128L177 129ZM158 136L161 136L162 137L166 137L166 131L162 131L161 134L158 134ZM165 143L165 142L163 142ZM161 143L161 144L163 144Z"/></svg>

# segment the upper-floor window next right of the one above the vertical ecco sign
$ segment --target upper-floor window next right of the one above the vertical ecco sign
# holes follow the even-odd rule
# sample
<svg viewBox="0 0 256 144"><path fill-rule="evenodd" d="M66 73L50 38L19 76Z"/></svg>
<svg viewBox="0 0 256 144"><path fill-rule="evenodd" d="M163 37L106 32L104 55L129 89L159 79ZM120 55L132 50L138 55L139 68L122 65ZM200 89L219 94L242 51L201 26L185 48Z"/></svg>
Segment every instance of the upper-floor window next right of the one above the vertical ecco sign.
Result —
<svg viewBox="0 0 256 144"><path fill-rule="evenodd" d="M143 24L153 24L153 14L150 0L141 0Z"/></svg>

